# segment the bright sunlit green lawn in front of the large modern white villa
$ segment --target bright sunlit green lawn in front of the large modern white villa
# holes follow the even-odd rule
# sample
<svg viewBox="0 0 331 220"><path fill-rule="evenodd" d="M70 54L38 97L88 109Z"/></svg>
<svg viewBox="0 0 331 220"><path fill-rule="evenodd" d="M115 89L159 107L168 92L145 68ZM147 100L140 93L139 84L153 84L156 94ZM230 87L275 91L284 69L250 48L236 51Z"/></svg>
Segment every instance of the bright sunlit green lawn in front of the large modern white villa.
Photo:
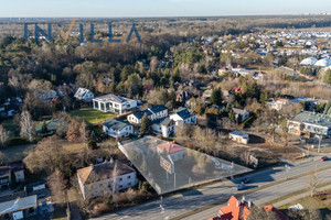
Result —
<svg viewBox="0 0 331 220"><path fill-rule="evenodd" d="M92 124L98 124L100 122L104 122L107 119L115 118L115 114L111 113L105 113L102 111L94 110L92 108L84 108L79 110L71 111L71 114L73 117L78 117L81 119L86 120L87 122Z"/></svg>

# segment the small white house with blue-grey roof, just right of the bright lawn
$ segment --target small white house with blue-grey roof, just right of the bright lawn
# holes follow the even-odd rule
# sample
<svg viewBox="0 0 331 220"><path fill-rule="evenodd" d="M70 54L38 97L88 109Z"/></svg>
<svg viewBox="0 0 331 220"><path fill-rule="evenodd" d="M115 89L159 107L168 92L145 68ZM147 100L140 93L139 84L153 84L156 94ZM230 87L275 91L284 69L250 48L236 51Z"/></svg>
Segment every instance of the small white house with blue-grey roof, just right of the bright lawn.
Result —
<svg viewBox="0 0 331 220"><path fill-rule="evenodd" d="M115 119L108 119L103 123L103 131L115 139L121 139L134 133L134 127Z"/></svg>

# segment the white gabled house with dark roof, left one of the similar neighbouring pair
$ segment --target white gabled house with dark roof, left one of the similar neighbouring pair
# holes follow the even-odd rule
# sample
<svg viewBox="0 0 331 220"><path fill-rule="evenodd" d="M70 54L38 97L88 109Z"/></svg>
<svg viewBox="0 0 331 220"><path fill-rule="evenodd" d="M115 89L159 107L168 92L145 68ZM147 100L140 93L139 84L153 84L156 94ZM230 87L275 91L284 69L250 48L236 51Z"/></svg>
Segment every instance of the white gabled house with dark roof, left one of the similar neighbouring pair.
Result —
<svg viewBox="0 0 331 220"><path fill-rule="evenodd" d="M151 106L147 110L129 114L127 119L130 123L140 124L145 113L147 113L151 121L154 121L168 117L168 109L163 105Z"/></svg>

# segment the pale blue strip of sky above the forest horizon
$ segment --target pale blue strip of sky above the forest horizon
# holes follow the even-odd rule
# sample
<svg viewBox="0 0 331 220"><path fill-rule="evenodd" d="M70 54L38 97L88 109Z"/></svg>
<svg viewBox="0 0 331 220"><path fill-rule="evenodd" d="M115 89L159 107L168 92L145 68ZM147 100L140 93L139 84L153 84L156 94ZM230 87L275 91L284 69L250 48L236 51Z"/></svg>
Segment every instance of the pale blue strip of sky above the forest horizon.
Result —
<svg viewBox="0 0 331 220"><path fill-rule="evenodd" d="M330 0L0 0L0 16L199 16L331 13Z"/></svg>

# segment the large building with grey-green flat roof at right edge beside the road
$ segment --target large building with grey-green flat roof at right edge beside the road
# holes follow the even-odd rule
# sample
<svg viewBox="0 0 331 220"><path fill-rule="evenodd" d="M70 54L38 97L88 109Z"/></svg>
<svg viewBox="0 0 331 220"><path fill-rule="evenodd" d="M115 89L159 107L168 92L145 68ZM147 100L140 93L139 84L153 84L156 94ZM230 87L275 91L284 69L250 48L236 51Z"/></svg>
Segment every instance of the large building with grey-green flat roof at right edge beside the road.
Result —
<svg viewBox="0 0 331 220"><path fill-rule="evenodd" d="M331 116L301 111L288 120L288 129L290 133L309 139L316 135L331 136Z"/></svg>

